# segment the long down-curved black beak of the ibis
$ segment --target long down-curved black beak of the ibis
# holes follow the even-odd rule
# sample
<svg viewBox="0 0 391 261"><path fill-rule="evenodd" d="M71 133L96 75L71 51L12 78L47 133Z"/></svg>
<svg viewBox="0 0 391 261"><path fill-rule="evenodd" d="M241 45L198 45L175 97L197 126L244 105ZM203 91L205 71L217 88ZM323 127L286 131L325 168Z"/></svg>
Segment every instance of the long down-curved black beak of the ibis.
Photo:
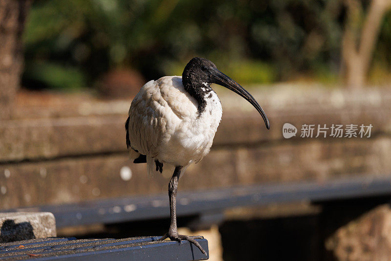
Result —
<svg viewBox="0 0 391 261"><path fill-rule="evenodd" d="M211 79L212 79L212 83L221 85L223 87L226 87L227 89L230 89L238 93L241 97L243 97L249 103L251 103L255 107L255 109L257 109L258 112L261 114L263 121L265 122L266 128L268 130L270 129L269 120L267 119L265 112L248 91L246 91L243 87L241 87L237 82L232 80L230 77L217 70L217 68L213 68L213 70L211 71Z"/></svg>

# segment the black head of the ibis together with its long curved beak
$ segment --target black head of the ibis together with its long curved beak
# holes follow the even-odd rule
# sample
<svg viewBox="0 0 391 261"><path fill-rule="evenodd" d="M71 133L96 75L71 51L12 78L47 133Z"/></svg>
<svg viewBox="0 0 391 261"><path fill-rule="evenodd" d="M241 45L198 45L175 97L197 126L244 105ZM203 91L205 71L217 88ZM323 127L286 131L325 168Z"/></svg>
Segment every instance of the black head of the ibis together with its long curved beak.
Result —
<svg viewBox="0 0 391 261"><path fill-rule="evenodd" d="M182 82L187 91L196 94L202 88L209 87L211 84L218 84L236 92L258 110L265 122L266 128L270 129L269 120L254 97L237 82L219 71L217 66L211 61L199 57L190 60L183 70Z"/></svg>

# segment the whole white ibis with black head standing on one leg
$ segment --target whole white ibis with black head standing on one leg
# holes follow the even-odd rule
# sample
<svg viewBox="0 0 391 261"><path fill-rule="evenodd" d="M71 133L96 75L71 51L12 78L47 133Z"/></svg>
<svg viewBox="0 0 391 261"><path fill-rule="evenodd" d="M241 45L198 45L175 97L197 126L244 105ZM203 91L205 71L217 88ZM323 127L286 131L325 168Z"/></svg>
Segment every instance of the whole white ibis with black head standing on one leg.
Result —
<svg viewBox="0 0 391 261"><path fill-rule="evenodd" d="M193 58L180 76L165 76L146 83L134 97L125 123L126 144L134 163L147 163L148 173L169 172L171 224L161 239L193 242L202 236L178 235L176 225L176 192L178 179L186 168L200 161L212 146L221 120L221 103L210 87L218 84L249 101L269 129L269 121L254 97L237 82L217 70L204 58Z"/></svg>

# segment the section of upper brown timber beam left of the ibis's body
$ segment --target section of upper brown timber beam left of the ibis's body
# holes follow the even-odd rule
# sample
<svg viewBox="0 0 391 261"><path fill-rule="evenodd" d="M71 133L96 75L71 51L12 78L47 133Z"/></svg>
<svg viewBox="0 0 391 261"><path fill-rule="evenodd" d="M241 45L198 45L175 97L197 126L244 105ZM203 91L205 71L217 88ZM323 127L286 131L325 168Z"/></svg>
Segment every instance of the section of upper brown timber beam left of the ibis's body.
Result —
<svg viewBox="0 0 391 261"><path fill-rule="evenodd" d="M123 115L2 122L0 161L125 152Z"/></svg>

